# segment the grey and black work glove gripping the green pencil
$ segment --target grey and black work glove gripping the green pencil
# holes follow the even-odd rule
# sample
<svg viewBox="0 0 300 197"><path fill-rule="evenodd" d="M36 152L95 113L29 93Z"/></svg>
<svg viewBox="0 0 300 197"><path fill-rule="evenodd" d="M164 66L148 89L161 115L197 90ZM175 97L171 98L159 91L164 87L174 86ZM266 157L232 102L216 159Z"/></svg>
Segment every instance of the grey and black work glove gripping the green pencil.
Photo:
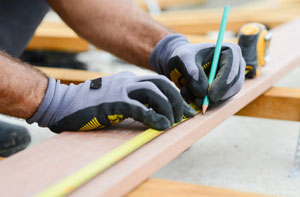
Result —
<svg viewBox="0 0 300 197"><path fill-rule="evenodd" d="M210 107L237 94L245 80L245 61L234 43L222 45L216 78L209 86L208 76L215 44L191 44L181 34L164 37L150 55L149 62L159 74L167 76L187 100L202 106L208 94Z"/></svg>

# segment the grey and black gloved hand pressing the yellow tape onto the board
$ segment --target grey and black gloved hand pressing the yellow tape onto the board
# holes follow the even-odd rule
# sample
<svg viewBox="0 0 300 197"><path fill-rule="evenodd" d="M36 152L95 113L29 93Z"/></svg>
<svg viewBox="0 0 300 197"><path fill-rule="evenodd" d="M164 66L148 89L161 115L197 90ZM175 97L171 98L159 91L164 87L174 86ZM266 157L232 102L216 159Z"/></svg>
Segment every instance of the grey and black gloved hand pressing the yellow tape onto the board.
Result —
<svg viewBox="0 0 300 197"><path fill-rule="evenodd" d="M163 130L179 122L183 114L191 117L196 112L166 77L123 72L79 85L49 78L45 97L27 122L60 133L99 129L132 117Z"/></svg>

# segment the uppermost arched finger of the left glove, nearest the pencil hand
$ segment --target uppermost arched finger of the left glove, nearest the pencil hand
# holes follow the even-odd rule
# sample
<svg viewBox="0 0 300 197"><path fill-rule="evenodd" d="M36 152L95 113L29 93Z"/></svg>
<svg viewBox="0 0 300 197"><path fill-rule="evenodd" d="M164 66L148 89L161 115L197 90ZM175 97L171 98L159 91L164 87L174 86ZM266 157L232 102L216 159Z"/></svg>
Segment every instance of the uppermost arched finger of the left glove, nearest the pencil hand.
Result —
<svg viewBox="0 0 300 197"><path fill-rule="evenodd" d="M162 93L168 98L173 111L174 121L179 122L182 119L183 115L183 98L175 87L171 84L171 82L162 76L157 76L157 78L148 78L143 79L146 81L150 81L154 83Z"/></svg>

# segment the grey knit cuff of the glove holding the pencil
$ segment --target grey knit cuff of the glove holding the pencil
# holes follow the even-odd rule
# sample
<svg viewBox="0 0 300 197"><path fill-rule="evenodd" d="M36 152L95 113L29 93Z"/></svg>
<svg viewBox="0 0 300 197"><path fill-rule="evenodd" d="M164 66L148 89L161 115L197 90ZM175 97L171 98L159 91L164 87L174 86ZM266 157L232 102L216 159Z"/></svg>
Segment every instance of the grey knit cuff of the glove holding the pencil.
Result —
<svg viewBox="0 0 300 197"><path fill-rule="evenodd" d="M161 39L150 54L149 63L159 74L167 74L167 64L170 56L176 48L189 43L182 34L169 34Z"/></svg>

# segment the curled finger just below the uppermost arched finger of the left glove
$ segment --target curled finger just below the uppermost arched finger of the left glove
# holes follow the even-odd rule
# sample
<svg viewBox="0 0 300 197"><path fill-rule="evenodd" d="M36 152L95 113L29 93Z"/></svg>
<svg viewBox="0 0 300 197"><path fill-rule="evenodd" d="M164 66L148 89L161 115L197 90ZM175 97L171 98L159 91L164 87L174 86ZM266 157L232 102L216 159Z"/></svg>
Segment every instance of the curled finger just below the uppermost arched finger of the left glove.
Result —
<svg viewBox="0 0 300 197"><path fill-rule="evenodd" d="M149 106L174 123L172 106L168 98L151 82L138 82L128 86L128 97Z"/></svg>

